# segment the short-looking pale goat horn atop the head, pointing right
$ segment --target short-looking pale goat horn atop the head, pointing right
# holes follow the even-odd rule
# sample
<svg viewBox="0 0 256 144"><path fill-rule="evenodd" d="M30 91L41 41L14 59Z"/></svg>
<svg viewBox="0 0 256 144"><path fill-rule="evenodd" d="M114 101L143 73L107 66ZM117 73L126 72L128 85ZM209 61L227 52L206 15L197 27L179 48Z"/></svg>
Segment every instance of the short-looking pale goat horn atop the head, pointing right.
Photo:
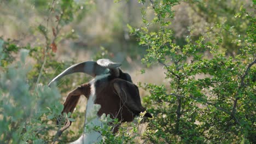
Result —
<svg viewBox="0 0 256 144"><path fill-rule="evenodd" d="M119 76L119 69L118 67L121 66L121 63L114 63L110 61L109 59L98 59L97 61L98 65L101 65L101 67L108 68L113 71L113 74L115 76Z"/></svg>

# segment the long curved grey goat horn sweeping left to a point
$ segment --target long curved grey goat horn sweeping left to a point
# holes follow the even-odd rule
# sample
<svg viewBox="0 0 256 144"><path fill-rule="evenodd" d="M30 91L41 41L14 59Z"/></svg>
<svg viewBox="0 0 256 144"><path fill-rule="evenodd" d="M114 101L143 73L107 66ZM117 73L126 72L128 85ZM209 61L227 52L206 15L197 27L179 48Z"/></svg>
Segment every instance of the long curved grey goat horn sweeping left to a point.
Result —
<svg viewBox="0 0 256 144"><path fill-rule="evenodd" d="M64 70L61 74L54 77L54 79L48 84L48 86L50 86L51 83L61 79L61 77L65 75L73 74L73 73L86 73L95 77L96 75L101 75L107 72L108 72L107 68L101 67L101 65L98 65L94 61L82 62L82 63L72 65L71 67Z"/></svg>

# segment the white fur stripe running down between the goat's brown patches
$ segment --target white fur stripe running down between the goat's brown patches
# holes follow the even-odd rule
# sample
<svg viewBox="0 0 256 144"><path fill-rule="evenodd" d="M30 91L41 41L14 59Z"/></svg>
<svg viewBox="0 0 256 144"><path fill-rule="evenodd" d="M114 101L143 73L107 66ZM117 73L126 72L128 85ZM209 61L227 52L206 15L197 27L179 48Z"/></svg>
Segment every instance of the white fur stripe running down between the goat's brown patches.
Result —
<svg viewBox="0 0 256 144"><path fill-rule="evenodd" d="M90 81L91 84L91 94L88 99L86 105L86 113L85 113L85 128L82 136L79 137L78 140L72 142L72 144L89 144L89 143L97 143L102 140L101 134L97 131L93 130L95 126L101 127L102 122L100 121L100 117L97 116L98 110L100 110L101 105L94 104L96 99L96 87L95 82L97 80L103 79L104 77L109 76L110 74L99 75L96 76L95 79Z"/></svg>

